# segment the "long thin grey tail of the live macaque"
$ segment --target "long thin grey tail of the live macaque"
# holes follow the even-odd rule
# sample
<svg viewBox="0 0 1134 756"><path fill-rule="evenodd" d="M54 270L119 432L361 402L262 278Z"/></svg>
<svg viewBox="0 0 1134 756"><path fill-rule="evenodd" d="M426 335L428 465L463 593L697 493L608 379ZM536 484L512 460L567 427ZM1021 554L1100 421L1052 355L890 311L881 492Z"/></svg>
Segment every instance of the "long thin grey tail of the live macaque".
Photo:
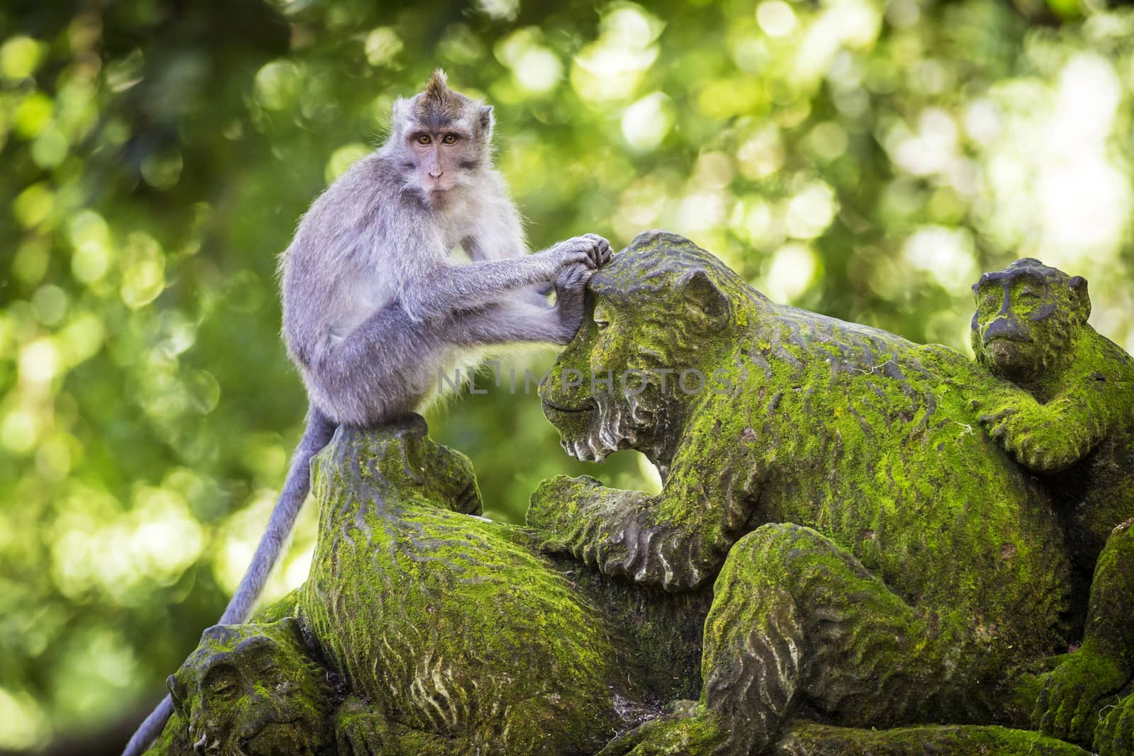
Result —
<svg viewBox="0 0 1134 756"><path fill-rule="evenodd" d="M264 588L268 575L276 566L284 542L291 534L295 527L295 518L303 508L303 502L311 490L311 458L320 449L325 447L335 434L336 425L321 411L311 407L307 410L307 428L303 432L299 445L291 455L291 467L287 472L287 479L284 483L284 491L280 493L272 516L264 528L264 535L260 537L260 545L252 557L252 564L248 571L240 579L236 593L228 602L228 608L221 614L218 625L239 625L247 621L252 614L252 606L256 603L260 592ZM174 713L174 699L169 696L162 698L158 707L138 727L137 731L126 744L122 756L141 756L150 744L161 734L169 715Z"/></svg>

